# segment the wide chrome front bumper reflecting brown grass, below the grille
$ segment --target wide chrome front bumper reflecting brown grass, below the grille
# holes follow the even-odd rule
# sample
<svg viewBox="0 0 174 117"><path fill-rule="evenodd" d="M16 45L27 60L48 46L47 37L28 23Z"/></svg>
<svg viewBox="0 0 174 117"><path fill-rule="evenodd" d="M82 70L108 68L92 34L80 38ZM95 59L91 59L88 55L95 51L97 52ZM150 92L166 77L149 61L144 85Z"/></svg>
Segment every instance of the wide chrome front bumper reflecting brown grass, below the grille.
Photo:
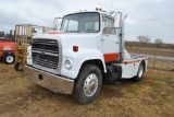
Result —
<svg viewBox="0 0 174 117"><path fill-rule="evenodd" d="M24 75L30 81L55 93L72 94L74 80L62 78L33 67L24 67Z"/></svg>

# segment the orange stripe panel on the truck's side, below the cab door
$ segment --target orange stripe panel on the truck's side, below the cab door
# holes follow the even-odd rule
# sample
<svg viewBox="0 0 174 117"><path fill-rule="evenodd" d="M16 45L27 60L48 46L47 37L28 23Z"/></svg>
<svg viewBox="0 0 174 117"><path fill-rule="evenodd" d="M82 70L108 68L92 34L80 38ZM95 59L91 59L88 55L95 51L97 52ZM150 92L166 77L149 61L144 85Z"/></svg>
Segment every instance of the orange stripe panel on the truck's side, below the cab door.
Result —
<svg viewBox="0 0 174 117"><path fill-rule="evenodd" d="M104 54L103 56L104 56L104 61L105 62L115 61L119 58L119 54L117 52Z"/></svg>

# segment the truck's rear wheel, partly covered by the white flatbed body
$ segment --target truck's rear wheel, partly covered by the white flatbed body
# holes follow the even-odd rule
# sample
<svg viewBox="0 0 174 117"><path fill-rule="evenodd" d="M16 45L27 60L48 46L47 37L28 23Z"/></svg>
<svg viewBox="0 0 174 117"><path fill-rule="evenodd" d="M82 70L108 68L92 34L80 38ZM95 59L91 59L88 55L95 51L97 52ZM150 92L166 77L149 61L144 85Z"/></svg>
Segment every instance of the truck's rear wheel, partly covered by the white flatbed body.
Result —
<svg viewBox="0 0 174 117"><path fill-rule="evenodd" d="M138 67L138 71L137 71L137 75L134 77L134 81L135 82L139 82L142 80L144 77L144 72L145 72L145 63L140 62L139 67Z"/></svg>

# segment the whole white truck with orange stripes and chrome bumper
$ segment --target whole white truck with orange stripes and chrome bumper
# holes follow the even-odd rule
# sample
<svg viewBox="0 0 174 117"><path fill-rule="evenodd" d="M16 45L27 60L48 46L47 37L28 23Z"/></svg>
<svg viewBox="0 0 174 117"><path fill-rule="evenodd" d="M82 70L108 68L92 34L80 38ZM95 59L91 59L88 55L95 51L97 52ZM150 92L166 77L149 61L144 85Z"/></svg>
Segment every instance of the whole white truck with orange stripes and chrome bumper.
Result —
<svg viewBox="0 0 174 117"><path fill-rule="evenodd" d="M24 74L55 93L73 94L80 104L97 98L102 83L140 81L147 56L124 47L121 12L83 11L63 16L59 32L33 37Z"/></svg>

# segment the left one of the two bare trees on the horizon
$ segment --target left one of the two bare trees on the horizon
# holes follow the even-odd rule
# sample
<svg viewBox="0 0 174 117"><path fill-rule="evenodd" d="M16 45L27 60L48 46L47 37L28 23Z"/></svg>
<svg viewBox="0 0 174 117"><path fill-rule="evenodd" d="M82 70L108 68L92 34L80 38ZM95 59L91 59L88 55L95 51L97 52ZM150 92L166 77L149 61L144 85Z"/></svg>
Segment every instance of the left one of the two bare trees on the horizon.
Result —
<svg viewBox="0 0 174 117"><path fill-rule="evenodd" d="M139 36L137 36L137 40L140 43L140 45L142 47L142 46L147 45L148 43L150 43L151 38L146 35L139 35Z"/></svg>

